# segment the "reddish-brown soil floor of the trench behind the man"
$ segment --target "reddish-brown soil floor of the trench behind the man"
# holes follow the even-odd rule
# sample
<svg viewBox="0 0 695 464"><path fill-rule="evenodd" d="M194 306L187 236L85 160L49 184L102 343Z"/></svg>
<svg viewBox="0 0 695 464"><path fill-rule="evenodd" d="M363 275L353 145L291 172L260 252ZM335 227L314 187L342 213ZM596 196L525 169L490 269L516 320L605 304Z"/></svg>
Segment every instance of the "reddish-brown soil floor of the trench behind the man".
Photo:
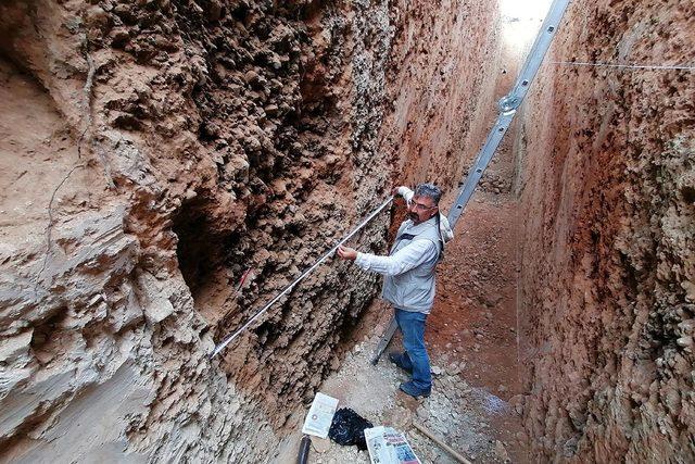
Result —
<svg viewBox="0 0 695 464"><path fill-rule="evenodd" d="M516 337L516 202L507 195L481 195L469 204L458 238L438 273L438 298L427 341L433 359L450 353L464 361L469 385L509 401L521 393ZM513 406L491 413L493 436L514 462L526 461Z"/></svg>

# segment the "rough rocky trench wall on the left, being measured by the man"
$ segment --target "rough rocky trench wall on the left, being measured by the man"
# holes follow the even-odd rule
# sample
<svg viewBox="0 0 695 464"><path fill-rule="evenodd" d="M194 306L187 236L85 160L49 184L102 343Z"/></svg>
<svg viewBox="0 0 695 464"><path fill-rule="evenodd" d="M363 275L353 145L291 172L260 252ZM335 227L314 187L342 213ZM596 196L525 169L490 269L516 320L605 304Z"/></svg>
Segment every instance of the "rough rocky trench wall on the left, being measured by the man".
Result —
<svg viewBox="0 0 695 464"><path fill-rule="evenodd" d="M376 277L334 263L211 362L214 341L387 195L416 155L389 135L473 118L494 11L3 2L0 459L270 459ZM434 78L426 116L407 90Z"/></svg>

